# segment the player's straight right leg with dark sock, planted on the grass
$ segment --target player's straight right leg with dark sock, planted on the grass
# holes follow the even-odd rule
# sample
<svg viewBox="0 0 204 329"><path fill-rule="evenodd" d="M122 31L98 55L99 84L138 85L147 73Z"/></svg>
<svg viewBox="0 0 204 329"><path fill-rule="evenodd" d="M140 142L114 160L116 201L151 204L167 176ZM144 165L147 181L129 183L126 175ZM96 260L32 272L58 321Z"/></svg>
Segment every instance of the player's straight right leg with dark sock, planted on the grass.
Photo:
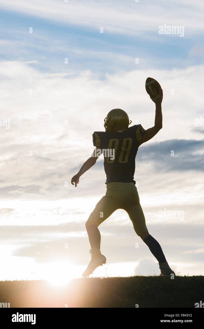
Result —
<svg viewBox="0 0 204 329"><path fill-rule="evenodd" d="M136 234L146 243L153 256L157 259L161 275L170 276L172 273L175 275L166 261L160 244L148 232L136 187L133 187L133 199L126 211L133 223Z"/></svg>

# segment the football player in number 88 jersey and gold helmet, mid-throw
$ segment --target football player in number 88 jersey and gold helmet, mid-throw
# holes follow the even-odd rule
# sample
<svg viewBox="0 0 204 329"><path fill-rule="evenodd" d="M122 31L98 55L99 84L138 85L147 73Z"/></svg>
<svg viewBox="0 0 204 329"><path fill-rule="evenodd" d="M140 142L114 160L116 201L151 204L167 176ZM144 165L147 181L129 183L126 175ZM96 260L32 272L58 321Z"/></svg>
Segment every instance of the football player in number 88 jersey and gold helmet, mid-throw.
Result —
<svg viewBox="0 0 204 329"><path fill-rule="evenodd" d="M89 276L98 266L106 263L106 257L100 251L101 235L98 226L117 209L124 209L128 213L136 234L147 244L157 259L161 270L160 275L169 277L175 275L166 261L160 244L148 232L133 179L138 147L152 139L162 128L163 91L160 88L159 93L157 94L154 90L154 94L155 97L150 96L156 105L154 126L147 130L144 130L141 124L129 127L131 122L129 123L129 117L125 111L121 109L110 111L104 120L105 132L94 132L92 135L96 152L93 152L93 155L71 179L71 184L77 187L80 176L96 163L101 152L104 153L107 191L86 222L91 245L91 261L82 274L83 277ZM107 152L111 150L112 153Z"/></svg>

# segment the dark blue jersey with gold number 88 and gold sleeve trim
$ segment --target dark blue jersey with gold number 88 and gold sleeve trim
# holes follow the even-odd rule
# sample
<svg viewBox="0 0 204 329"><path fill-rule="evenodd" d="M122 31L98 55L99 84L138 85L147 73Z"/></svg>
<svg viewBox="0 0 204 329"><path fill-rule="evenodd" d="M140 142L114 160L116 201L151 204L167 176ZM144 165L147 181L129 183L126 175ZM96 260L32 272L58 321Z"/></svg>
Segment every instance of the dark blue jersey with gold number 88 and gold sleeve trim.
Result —
<svg viewBox="0 0 204 329"><path fill-rule="evenodd" d="M142 126L134 125L123 131L93 133L93 145L104 154L106 184L111 182L134 183L135 157L139 141L145 134Z"/></svg>

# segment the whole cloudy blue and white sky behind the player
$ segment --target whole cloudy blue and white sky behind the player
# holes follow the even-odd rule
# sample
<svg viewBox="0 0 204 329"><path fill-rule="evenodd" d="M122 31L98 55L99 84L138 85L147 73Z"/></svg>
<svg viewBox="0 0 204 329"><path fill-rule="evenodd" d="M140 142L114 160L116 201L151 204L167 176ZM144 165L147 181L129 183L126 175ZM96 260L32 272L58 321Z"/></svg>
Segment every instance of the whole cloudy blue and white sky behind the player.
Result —
<svg viewBox="0 0 204 329"><path fill-rule="evenodd" d="M0 0L0 9L0 280L81 277L85 222L106 192L103 156L77 188L71 177L111 109L153 126L147 77L163 89L163 128L136 156L140 203L172 269L203 275L203 2ZM93 276L160 273L124 210L99 228L107 263Z"/></svg>

